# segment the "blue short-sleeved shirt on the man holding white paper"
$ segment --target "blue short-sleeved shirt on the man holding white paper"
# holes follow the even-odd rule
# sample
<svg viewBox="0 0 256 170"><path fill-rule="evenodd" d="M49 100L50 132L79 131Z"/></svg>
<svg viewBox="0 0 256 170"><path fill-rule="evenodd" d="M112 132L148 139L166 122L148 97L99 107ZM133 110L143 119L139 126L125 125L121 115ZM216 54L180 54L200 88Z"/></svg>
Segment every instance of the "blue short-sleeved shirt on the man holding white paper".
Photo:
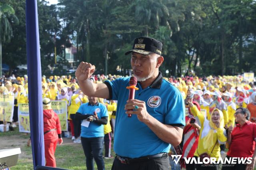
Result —
<svg viewBox="0 0 256 170"><path fill-rule="evenodd" d="M95 105L84 103L80 105L77 112L82 115L94 115L94 111L97 113L99 119L108 117L106 106L98 102ZM81 136L84 138L104 137L104 126L92 121L90 122L89 127L81 126Z"/></svg>

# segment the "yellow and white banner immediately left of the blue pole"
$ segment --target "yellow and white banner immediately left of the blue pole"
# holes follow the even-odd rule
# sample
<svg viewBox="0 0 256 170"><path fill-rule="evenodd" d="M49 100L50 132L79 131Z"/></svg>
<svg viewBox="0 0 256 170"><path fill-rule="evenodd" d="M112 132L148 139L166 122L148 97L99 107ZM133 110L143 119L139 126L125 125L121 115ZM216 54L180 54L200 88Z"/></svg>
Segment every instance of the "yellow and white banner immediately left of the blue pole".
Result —
<svg viewBox="0 0 256 170"><path fill-rule="evenodd" d="M18 118L20 132L30 132L30 119L28 104L18 105Z"/></svg>

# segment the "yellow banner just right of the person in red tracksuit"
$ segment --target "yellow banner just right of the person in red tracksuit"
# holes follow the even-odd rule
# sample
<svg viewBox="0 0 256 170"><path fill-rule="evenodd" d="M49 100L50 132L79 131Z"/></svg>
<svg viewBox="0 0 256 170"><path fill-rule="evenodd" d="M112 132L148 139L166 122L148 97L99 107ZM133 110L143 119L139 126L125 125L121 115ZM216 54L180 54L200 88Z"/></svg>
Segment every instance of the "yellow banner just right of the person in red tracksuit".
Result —
<svg viewBox="0 0 256 170"><path fill-rule="evenodd" d="M60 119L62 131L68 131L68 109L66 101L52 101L52 110L57 113Z"/></svg>

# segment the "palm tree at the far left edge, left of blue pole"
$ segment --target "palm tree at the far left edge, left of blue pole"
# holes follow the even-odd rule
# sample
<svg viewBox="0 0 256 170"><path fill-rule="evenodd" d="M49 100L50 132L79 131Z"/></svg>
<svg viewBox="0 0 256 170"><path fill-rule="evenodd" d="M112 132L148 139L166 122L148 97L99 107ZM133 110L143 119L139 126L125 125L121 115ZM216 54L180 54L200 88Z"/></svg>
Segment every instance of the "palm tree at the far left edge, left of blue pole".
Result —
<svg viewBox="0 0 256 170"><path fill-rule="evenodd" d="M18 22L14 9L7 4L0 6L0 77L2 77L2 42L9 42L12 37L11 22Z"/></svg>

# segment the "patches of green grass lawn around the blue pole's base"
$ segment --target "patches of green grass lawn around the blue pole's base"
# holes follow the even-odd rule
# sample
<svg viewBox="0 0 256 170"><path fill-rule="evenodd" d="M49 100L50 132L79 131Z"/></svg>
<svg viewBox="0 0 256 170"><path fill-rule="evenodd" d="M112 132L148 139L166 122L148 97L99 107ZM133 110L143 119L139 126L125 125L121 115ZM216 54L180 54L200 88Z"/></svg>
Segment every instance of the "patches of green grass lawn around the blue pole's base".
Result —
<svg viewBox="0 0 256 170"><path fill-rule="evenodd" d="M8 148L21 148L22 156L19 156L18 163L16 166L11 167L12 170L33 170L33 160L32 160L32 149L26 146L26 140L29 135L25 133L18 132L18 128L15 131L0 132L0 141L10 137L15 136L16 140L21 141L20 144L11 144ZM18 142L16 141L16 142ZM74 144L70 142L70 139L64 138L64 143L58 145L55 152L55 158L58 168L65 168L70 170L86 170L86 158L84 156L84 151L81 144ZM2 142L0 142L0 149ZM104 155L104 150L103 150ZM112 150L112 155L114 151ZM110 170L114 158L104 159L105 169ZM94 168L97 169L96 163L94 161Z"/></svg>

